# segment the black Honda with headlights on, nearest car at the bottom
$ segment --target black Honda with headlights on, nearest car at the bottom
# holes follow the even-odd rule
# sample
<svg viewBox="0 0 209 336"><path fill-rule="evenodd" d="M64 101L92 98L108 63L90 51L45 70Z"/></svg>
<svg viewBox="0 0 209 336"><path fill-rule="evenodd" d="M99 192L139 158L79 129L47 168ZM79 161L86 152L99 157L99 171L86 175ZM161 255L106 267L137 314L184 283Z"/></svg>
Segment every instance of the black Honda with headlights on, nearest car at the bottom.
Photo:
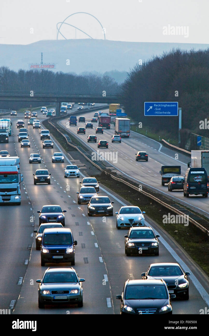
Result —
<svg viewBox="0 0 209 336"><path fill-rule="evenodd" d="M120 314L172 314L171 299L175 294L168 293L164 280L127 280L122 295Z"/></svg>

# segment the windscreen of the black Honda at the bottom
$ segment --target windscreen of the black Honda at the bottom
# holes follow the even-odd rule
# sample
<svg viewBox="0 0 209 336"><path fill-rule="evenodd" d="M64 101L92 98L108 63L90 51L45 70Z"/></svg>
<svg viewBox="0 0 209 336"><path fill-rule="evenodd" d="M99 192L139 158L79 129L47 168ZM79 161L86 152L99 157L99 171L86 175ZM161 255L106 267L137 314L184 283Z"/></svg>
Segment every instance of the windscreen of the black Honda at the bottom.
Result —
<svg viewBox="0 0 209 336"><path fill-rule="evenodd" d="M125 300L167 299L163 285L131 285L126 287Z"/></svg>

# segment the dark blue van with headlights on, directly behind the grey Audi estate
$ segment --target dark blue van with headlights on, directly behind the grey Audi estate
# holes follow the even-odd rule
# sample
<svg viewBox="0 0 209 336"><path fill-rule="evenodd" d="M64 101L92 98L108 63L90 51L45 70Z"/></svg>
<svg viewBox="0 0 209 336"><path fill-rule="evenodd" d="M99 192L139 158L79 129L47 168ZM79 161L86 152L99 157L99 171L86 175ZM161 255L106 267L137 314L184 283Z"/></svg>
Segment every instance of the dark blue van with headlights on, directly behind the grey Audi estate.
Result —
<svg viewBox="0 0 209 336"><path fill-rule="evenodd" d="M73 239L70 228L45 229L41 243L41 266L46 262L71 262L75 264L75 248L77 241Z"/></svg>

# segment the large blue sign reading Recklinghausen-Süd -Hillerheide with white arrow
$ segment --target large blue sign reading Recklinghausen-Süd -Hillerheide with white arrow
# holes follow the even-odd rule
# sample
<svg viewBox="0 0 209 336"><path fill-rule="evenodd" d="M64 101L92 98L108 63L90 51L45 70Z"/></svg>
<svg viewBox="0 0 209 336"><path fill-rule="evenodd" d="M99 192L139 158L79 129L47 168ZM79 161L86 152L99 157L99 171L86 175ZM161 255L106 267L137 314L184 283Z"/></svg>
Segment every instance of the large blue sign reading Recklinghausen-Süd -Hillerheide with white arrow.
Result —
<svg viewBox="0 0 209 336"><path fill-rule="evenodd" d="M144 103L145 116L178 116L178 102L176 101L151 101Z"/></svg>

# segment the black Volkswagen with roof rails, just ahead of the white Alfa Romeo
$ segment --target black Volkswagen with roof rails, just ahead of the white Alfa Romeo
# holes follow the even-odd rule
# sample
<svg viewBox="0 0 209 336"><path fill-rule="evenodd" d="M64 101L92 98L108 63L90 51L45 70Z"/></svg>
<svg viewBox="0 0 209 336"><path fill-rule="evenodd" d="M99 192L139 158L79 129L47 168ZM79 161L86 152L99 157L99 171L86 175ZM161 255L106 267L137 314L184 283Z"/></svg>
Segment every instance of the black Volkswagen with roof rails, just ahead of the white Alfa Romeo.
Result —
<svg viewBox="0 0 209 336"><path fill-rule="evenodd" d="M125 238L125 254L154 253L159 255L159 235L150 226L130 227Z"/></svg>

